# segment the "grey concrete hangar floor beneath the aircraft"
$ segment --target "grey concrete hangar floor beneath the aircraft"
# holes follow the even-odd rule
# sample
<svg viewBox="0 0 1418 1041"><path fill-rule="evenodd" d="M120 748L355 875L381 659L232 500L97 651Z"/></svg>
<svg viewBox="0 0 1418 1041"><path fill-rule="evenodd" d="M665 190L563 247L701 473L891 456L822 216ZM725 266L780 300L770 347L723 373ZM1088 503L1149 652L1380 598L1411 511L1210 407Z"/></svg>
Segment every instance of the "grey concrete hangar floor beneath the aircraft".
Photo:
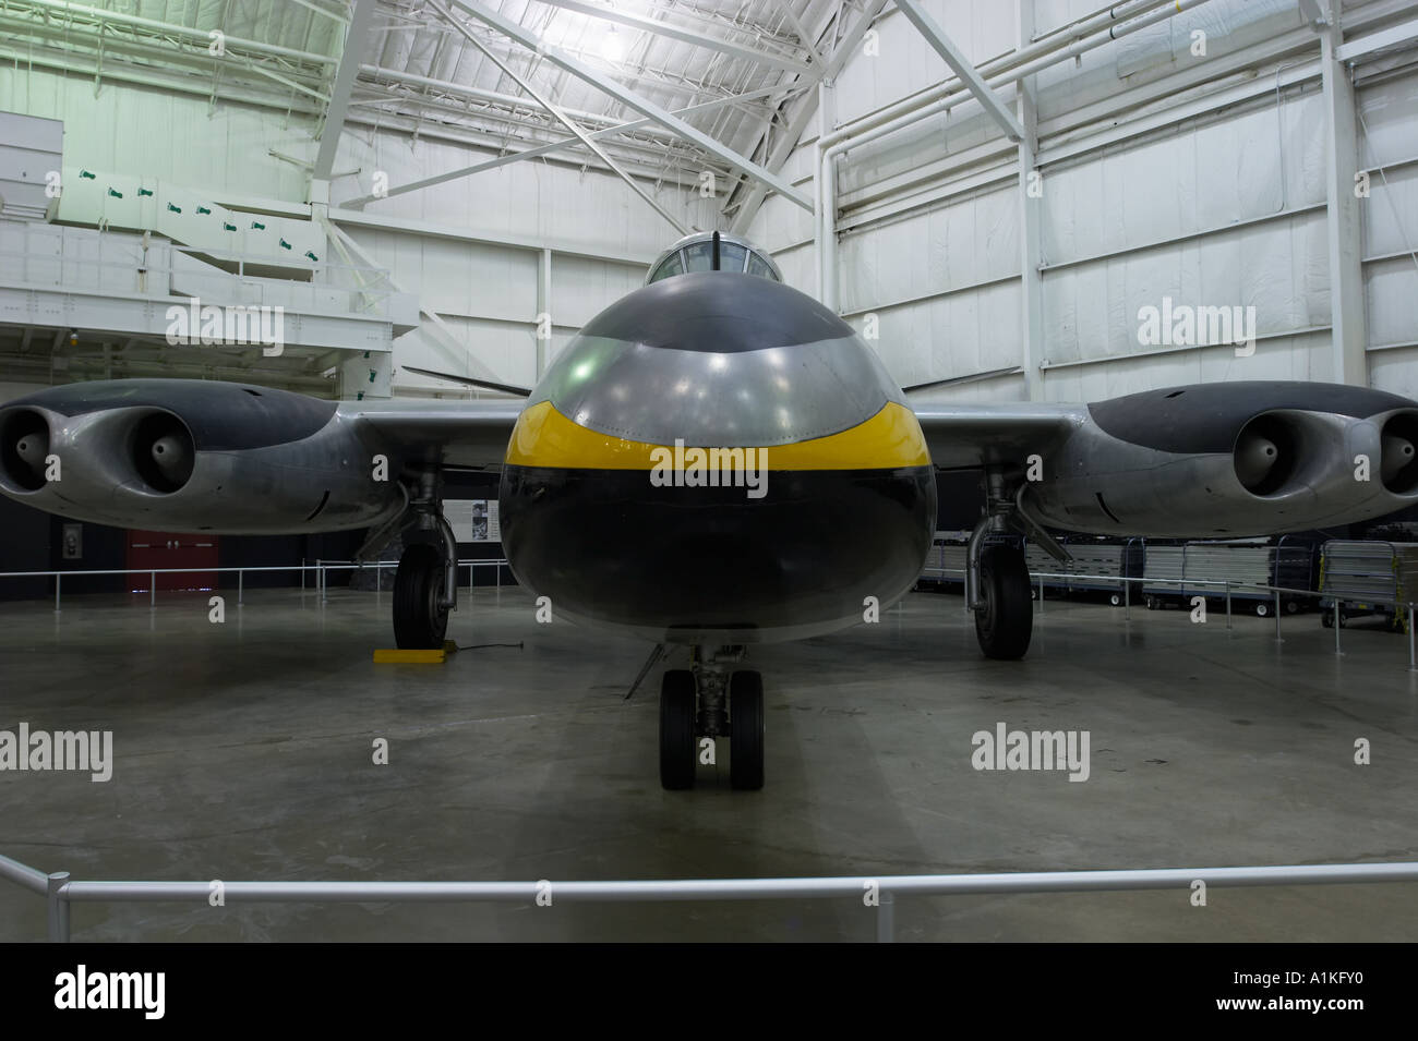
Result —
<svg viewBox="0 0 1418 1041"><path fill-rule="evenodd" d="M231 598L234 599L234 598ZM1024 661L959 595L766 647L767 783L657 778L647 647L464 593L444 666L376 666L389 593L0 606L4 719L113 731L113 776L0 773L0 853L99 880L618 880L1397 861L1418 855L1407 640L1049 601ZM977 770L998 722L1086 729L1090 772ZM373 765L374 738L390 742ZM1373 765L1354 765L1366 738ZM716 776L716 772L720 776ZM902 898L910 940L1407 940L1418 885ZM77 904L75 940L865 940L859 901ZM0 940L45 935L0 885Z"/></svg>

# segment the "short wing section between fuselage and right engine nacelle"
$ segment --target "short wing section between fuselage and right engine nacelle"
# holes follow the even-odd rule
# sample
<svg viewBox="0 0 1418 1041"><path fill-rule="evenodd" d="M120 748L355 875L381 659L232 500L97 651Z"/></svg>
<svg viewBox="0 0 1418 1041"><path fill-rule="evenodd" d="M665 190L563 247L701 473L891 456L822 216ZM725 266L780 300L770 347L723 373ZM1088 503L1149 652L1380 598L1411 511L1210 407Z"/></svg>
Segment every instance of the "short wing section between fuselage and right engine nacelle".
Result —
<svg viewBox="0 0 1418 1041"><path fill-rule="evenodd" d="M932 462L943 470L1022 466L1048 456L1088 422L1083 405L916 405Z"/></svg>

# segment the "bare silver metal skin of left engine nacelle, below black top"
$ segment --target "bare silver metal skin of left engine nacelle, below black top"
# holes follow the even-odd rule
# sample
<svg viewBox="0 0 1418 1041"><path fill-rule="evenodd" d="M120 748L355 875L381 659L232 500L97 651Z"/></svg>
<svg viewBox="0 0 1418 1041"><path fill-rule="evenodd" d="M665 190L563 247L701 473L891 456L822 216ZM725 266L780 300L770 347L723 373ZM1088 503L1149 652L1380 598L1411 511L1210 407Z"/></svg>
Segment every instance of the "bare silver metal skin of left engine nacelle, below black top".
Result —
<svg viewBox="0 0 1418 1041"><path fill-rule="evenodd" d="M176 490L164 491L143 479L133 435L140 421L172 414L133 406L65 416L35 405L24 408L48 425L44 456L57 457L60 479L30 490L14 474L0 472L0 491L74 520L221 534L303 534L367 527L403 507L394 480L373 480L377 443L340 412L308 438L265 448L184 457L190 439L159 438L152 453L173 460L155 459L162 472L174 477L190 473L174 482L180 484ZM17 448L17 455L27 463L35 457L28 446ZM391 473L397 476L397 470Z"/></svg>

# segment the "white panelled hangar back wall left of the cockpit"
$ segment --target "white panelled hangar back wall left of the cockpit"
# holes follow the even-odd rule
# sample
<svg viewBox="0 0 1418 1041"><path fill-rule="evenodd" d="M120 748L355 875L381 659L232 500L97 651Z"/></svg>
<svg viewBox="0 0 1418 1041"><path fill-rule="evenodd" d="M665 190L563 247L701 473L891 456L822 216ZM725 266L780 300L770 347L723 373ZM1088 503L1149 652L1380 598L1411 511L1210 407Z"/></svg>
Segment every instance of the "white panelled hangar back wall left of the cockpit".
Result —
<svg viewBox="0 0 1418 1041"><path fill-rule="evenodd" d="M95 96L92 76L14 64L0 67L0 110L62 120L65 164L159 177L257 212L312 212L301 161L313 160L315 125L299 113L228 101L208 108L201 96L125 81L105 81ZM406 364L532 382L539 364L638 286L648 263L681 232L617 176L547 160L343 208L372 193L376 173L397 187L495 156L437 133L430 127L415 142L408 133L347 125L330 181L337 227L394 285L438 313L452 336L425 320L397 339L394 394L468 392L401 372ZM715 227L715 200L700 198L698 186L666 178L641 187L683 225ZM326 255L339 259L333 244ZM543 310L552 317L550 341L536 336ZM279 382L279 374L274 378Z"/></svg>

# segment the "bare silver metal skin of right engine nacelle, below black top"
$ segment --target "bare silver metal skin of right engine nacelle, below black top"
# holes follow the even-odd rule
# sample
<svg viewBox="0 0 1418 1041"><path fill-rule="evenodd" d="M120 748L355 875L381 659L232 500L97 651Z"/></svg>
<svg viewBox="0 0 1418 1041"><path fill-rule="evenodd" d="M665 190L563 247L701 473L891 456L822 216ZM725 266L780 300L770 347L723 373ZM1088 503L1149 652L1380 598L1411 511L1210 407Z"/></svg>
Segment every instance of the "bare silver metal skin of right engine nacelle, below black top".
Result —
<svg viewBox="0 0 1418 1041"><path fill-rule="evenodd" d="M1282 534L1383 517L1418 503L1418 489L1394 491L1383 480L1412 459L1407 439L1381 435L1401 414L1258 409L1252 423L1275 416L1296 435L1292 472L1265 494L1244 482L1283 465L1266 438L1242 431L1232 452L1173 453L1120 440L1086 419L1045 455L1044 480L1027 486L1027 501L1052 527L1154 538ZM1360 457L1368 460L1367 480Z"/></svg>

